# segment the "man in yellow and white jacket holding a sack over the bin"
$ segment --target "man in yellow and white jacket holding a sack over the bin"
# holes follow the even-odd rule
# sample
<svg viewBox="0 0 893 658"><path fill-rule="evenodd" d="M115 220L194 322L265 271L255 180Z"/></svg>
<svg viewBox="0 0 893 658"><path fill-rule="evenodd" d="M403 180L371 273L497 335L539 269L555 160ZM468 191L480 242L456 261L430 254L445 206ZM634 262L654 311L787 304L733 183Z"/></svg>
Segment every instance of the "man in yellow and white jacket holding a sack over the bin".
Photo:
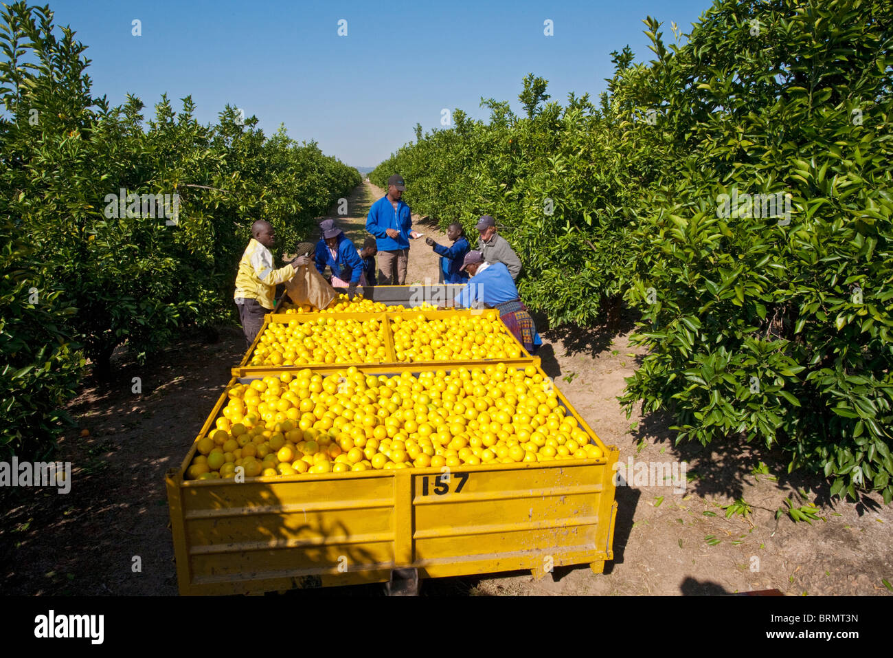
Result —
<svg viewBox="0 0 893 658"><path fill-rule="evenodd" d="M276 305L276 286L290 281L298 266L306 266L309 257L295 258L278 270L273 269L273 255L270 251L276 244L276 232L272 224L263 219L251 224L253 239L248 242L236 274L236 306L242 322L245 340L250 346L263 326L263 316L271 313Z"/></svg>

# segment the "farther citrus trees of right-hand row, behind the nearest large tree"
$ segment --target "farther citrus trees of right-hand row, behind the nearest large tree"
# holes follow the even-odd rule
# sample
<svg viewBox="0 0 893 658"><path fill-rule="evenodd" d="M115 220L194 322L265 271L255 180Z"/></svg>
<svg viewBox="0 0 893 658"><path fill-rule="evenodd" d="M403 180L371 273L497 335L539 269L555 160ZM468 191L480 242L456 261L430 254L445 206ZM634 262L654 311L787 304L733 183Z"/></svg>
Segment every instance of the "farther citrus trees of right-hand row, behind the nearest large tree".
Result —
<svg viewBox="0 0 893 658"><path fill-rule="evenodd" d="M532 73L519 96L526 116L490 98L488 123L453 114L454 127L421 135L370 174L384 185L406 181L405 201L442 226L466 231L493 215L499 232L522 254L519 289L525 303L553 324L596 320L605 300L621 294L629 254L623 208L660 173L647 131L615 138L616 109L597 109L571 94L547 103L547 81Z"/></svg>

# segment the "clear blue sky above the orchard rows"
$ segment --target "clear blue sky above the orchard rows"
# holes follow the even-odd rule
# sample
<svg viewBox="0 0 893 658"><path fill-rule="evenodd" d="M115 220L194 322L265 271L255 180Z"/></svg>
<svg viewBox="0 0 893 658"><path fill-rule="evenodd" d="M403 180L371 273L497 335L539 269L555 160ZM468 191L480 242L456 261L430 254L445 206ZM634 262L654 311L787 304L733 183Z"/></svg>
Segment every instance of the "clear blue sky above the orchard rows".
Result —
<svg viewBox="0 0 893 658"><path fill-rule="evenodd" d="M179 109L191 95L200 122L224 105L255 114L266 134L285 123L293 139L319 142L346 164L374 166L413 139L413 126L440 126L442 108L486 119L480 97L519 111L522 78L597 99L629 44L650 59L647 15L683 32L710 0L621 2L282 2L255 0L47 0L57 25L88 46L94 95L146 104L163 93ZM134 37L131 21L142 21ZM338 21L347 36L338 36ZM544 21L554 36L544 35Z"/></svg>

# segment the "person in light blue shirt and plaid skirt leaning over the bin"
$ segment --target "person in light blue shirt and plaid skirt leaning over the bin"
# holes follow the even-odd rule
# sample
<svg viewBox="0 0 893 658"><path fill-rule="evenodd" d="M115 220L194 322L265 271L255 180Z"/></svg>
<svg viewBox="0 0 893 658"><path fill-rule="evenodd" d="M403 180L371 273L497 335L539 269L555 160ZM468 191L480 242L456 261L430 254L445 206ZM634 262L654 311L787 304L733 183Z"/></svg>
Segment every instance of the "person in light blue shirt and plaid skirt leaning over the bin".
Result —
<svg viewBox="0 0 893 658"><path fill-rule="evenodd" d="M469 251L462 264L471 278L455 297L455 306L496 308L506 328L531 354L543 343L503 263L490 264L480 251Z"/></svg>

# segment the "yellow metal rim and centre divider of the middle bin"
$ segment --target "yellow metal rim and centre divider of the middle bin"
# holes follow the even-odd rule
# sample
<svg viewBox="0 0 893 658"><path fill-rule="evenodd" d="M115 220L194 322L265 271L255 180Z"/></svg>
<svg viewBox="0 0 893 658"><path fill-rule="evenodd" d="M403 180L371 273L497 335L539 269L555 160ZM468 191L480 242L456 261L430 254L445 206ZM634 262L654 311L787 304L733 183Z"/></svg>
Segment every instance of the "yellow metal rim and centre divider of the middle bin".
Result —
<svg viewBox="0 0 893 658"><path fill-rule="evenodd" d="M498 320L499 312L495 309L470 309L470 308L453 308L447 310L421 310L421 309L407 309L405 311L386 311L386 312L375 312L375 313L360 313L360 312L350 312L350 313L271 313L265 316L265 320L263 323L263 327L261 327L261 331L257 333L257 338L252 346L248 349L245 354L245 357L239 362L238 369L240 376L246 376L252 372L258 371L259 369L263 369L264 371L271 371L274 373L283 373L288 372L290 370L294 370L297 366L251 366L251 357L255 353L255 349L260 344L261 336L263 332L267 330L267 328L271 324L287 324L292 320L296 320L297 322L304 324L308 322L319 322L320 319L323 320L360 320L362 322L366 320L379 320L382 324L382 333L385 341L385 350L387 351L387 358L382 363L399 363L396 360L396 352L394 350L394 333L391 330L391 324L394 321L396 316L401 317L401 319L416 319L420 316L423 316L426 320L446 320L450 317L472 317L472 316L480 316L484 317L488 320ZM517 347L518 350L521 351L521 356L517 359L530 359L530 353L524 349L522 344L518 342L518 340L514 337L514 335L508 331L508 328L499 323L498 325L503 335L507 336ZM495 363L498 361L505 361L505 363L513 363L517 359L474 359L475 363L481 362L492 362ZM428 366L438 366L443 367L449 364L455 364L456 361L414 361L413 366L415 367L428 367ZM347 363L347 364L307 364L306 367L317 367L324 365L335 365L337 367L346 367L346 366L360 366L363 364L360 363ZM299 367L297 367L299 368Z"/></svg>

